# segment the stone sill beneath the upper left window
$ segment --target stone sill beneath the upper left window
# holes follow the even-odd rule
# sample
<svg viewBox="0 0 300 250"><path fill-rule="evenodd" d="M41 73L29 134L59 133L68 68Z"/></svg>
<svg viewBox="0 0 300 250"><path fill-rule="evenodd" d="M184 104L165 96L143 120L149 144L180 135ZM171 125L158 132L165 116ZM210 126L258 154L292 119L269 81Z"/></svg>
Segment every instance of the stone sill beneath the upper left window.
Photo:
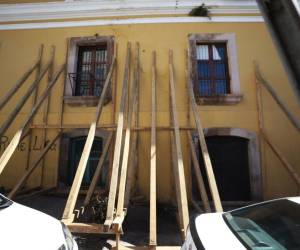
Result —
<svg viewBox="0 0 300 250"><path fill-rule="evenodd" d="M64 103L71 107L96 107L99 96L64 96ZM110 100L106 100L107 104Z"/></svg>

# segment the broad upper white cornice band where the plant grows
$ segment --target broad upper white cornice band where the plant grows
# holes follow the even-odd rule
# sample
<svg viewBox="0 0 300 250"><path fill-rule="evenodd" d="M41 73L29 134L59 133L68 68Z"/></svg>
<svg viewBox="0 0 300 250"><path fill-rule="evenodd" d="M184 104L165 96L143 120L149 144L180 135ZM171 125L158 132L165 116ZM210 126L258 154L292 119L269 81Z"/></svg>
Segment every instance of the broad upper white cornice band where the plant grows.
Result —
<svg viewBox="0 0 300 250"><path fill-rule="evenodd" d="M65 2L0 4L0 22L184 15L203 2L210 9L211 14L259 14L254 0L68 0Z"/></svg>

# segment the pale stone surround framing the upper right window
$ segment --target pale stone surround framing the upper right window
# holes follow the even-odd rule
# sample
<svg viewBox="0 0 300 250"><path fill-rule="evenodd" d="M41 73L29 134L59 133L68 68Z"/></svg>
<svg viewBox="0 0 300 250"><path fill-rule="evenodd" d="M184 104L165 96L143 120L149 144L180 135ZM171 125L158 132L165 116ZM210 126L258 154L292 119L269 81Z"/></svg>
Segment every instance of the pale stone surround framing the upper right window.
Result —
<svg viewBox="0 0 300 250"><path fill-rule="evenodd" d="M237 62L237 51L235 43L235 34L232 33L214 33L214 34L190 34L189 37L191 78L194 83L194 93L198 104L201 105L233 105L242 101L243 95L240 93L240 80ZM198 71L197 71L197 52L198 44L216 44L226 43L227 45L227 72L228 88L230 93L225 95L201 96L197 89Z"/></svg>

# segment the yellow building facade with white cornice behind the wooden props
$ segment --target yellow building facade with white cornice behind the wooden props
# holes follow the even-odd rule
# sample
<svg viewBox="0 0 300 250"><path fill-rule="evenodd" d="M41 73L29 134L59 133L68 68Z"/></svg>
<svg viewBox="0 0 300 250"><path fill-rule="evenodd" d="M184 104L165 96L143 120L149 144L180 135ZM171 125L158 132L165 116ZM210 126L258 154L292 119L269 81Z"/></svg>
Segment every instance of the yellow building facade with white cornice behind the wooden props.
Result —
<svg viewBox="0 0 300 250"><path fill-rule="evenodd" d="M212 93L201 95L205 87L201 83L202 87L200 85L199 87L197 85L199 83L194 81L194 89L200 93L197 98L198 112L207 136L209 150L212 152L212 163L218 166L215 168L215 175L221 200L260 200L296 195L299 189L293 178L270 146L261 139L259 133L255 62L260 66L265 79L272 84L296 117L299 117L300 109L254 1L206 1L210 17L189 16L188 12L197 6L197 1L194 2L192 6L186 1L166 1L165 4L160 1L116 3L109 3L109 1L52 3L1 1L0 98L3 98L22 74L34 64L41 44L44 46L41 69L50 60L51 48L55 46L53 72L55 74L64 63L67 64L67 70L59 77L51 91L47 121L45 122L44 119L45 105L43 104L30 124L31 132L18 145L2 172L0 186L5 189L13 188L26 168L37 159L43 150L44 142L50 141L59 129L63 129L63 136L51 147L45 160L30 176L26 187L69 187L71 185L78 164L78 155L80 157L88 128L95 116L95 103L99 98L95 94L95 89L92 92L76 93L76 84L79 79L76 67L78 69L81 60L79 54L83 47L89 51L88 47L104 46L105 53L107 53L104 57L107 57L109 66L109 58L113 54L112 48L116 44L117 64L111 82L111 98L108 98L103 108L96 133L100 146L98 148L95 146L88 163L91 166L91 173L86 173L84 177L86 185L90 182L93 166L101 154L108 132L114 131L117 125L126 47L127 43L131 42L130 82L134 78L136 43L139 43L140 47L141 67L138 95L139 123L135 127L138 131L135 194L142 196L145 200L149 199L151 56L152 51L156 51L157 199L163 203L169 203L175 199L174 185L176 184L172 173L170 144L172 125L169 50L171 49L174 58L176 108L188 198L192 196L196 198L197 194L194 191L196 185L193 180L194 172L187 138L188 130L195 135L195 147L198 153L200 151L195 123L190 112L186 65L190 62L200 74L201 66L197 63L203 59L203 55L197 53L200 53L201 48L203 51L205 48L211 48L212 56L216 55L217 58L213 58L212 61L217 61L218 56L222 59L223 56L220 50L215 50L215 48L219 48L219 44L224 44L228 89L225 92L222 90L218 92L217 88ZM196 61L187 55L188 50L192 52L195 49ZM101 50L100 48L99 51ZM84 49L82 51L85 53ZM206 52L203 53L206 57ZM204 59L211 59L209 55L207 54L207 58ZM84 60L83 58L81 66ZM106 73L108 66L106 66ZM82 80L83 75L80 77ZM35 78L36 72L31 74L25 84L0 110L1 126ZM200 78L198 76L198 81L201 81ZM42 95L46 86L47 74L39 84L38 97ZM101 92L101 87L99 91ZM1 154L29 115L33 107L33 96L34 93L5 133L1 135ZM264 131L272 144L276 145L282 156L294 167L296 173L300 174L298 152L300 136L297 129L292 126L263 87L262 104ZM101 177L103 185L109 181L109 166L111 165L109 161L111 160L112 157L108 157L105 164L107 166ZM240 182L235 182L237 179L240 179ZM231 183L234 184L231 185ZM239 188L234 185L240 185L241 189L248 193L243 196L239 193ZM237 196L230 194L227 196L230 190L233 193L236 192Z"/></svg>

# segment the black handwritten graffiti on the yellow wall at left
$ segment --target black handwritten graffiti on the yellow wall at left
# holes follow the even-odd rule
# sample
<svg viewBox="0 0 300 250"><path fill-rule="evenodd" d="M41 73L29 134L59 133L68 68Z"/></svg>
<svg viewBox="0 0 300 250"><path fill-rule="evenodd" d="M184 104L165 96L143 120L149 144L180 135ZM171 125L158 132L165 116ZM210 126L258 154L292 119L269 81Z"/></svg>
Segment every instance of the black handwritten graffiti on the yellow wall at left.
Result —
<svg viewBox="0 0 300 250"><path fill-rule="evenodd" d="M33 150L33 151L41 151L44 147L47 146L47 144L50 142L50 140L46 140L45 141L45 144L43 145L43 139L42 137L38 137L38 136L34 136L32 138L32 141L31 141L31 147L30 147L30 150ZM7 146L9 145L10 143L10 139L8 136L1 136L0 137L0 152L4 151ZM27 151L28 150L28 143L24 142L24 141L21 141L17 147L17 150L20 151L20 152L23 152L23 151ZM51 148L50 148L51 151L56 151L56 143L54 143Z"/></svg>

